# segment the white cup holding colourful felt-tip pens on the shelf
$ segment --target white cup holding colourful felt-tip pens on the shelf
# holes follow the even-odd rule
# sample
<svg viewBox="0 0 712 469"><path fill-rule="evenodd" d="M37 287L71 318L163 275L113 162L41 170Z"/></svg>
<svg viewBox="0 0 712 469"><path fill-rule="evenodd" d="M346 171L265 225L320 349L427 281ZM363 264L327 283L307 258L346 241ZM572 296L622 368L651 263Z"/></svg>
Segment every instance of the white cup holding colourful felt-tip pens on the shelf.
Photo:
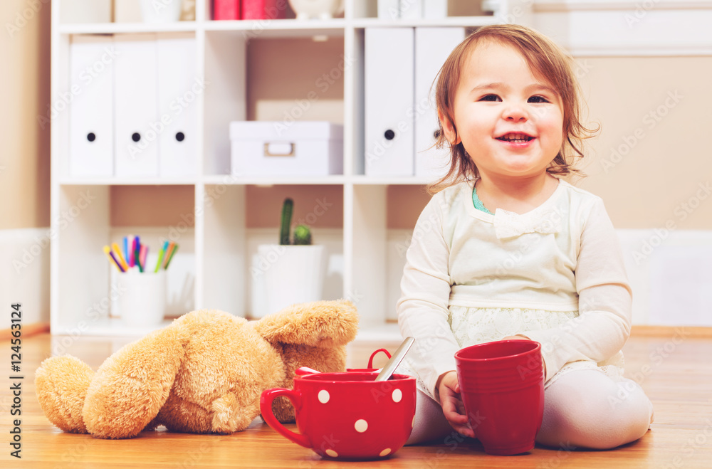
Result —
<svg viewBox="0 0 712 469"><path fill-rule="evenodd" d="M128 326L159 325L166 310L166 272L131 269L117 277L117 307Z"/></svg>

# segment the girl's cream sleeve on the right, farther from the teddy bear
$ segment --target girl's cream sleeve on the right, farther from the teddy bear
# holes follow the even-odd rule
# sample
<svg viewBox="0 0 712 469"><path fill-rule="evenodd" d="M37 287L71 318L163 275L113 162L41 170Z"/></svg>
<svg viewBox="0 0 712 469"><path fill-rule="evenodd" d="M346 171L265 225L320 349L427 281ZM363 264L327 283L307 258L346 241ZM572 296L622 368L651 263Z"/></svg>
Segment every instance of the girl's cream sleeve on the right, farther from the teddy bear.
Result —
<svg viewBox="0 0 712 469"><path fill-rule="evenodd" d="M600 199L582 229L575 278L578 317L553 329L518 334L542 344L545 381L567 362L609 359L630 334L631 290L618 238Z"/></svg>

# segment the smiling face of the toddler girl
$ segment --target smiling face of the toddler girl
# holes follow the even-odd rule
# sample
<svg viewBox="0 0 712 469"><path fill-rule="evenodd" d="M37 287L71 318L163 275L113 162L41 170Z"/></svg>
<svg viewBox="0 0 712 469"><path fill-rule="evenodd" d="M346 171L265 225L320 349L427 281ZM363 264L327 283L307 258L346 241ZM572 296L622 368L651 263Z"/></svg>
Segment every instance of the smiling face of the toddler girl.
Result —
<svg viewBox="0 0 712 469"><path fill-rule="evenodd" d="M559 95L518 51L494 41L479 43L466 60L454 120L458 135L443 122L445 136L462 142L483 178L545 175L563 139Z"/></svg>

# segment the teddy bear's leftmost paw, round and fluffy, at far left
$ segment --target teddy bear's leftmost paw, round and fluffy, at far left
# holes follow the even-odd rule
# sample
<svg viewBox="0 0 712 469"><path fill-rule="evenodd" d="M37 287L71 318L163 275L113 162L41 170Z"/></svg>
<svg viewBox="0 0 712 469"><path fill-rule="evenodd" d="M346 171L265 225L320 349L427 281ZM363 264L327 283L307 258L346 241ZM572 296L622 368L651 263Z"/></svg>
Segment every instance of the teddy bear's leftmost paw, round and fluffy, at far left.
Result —
<svg viewBox="0 0 712 469"><path fill-rule="evenodd" d="M94 371L80 359L48 358L35 372L35 392L45 416L69 433L88 433L82 407Z"/></svg>

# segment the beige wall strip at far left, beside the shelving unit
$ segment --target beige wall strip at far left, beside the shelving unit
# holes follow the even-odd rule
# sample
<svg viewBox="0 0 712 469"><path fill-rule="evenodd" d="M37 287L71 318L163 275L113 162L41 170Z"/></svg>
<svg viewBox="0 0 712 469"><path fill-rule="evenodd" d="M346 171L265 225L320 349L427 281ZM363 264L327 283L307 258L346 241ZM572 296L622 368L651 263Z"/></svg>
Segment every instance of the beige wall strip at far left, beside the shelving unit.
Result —
<svg viewBox="0 0 712 469"><path fill-rule="evenodd" d="M50 4L37 3L0 2L0 229L49 226L49 125L38 116L49 103Z"/></svg>

